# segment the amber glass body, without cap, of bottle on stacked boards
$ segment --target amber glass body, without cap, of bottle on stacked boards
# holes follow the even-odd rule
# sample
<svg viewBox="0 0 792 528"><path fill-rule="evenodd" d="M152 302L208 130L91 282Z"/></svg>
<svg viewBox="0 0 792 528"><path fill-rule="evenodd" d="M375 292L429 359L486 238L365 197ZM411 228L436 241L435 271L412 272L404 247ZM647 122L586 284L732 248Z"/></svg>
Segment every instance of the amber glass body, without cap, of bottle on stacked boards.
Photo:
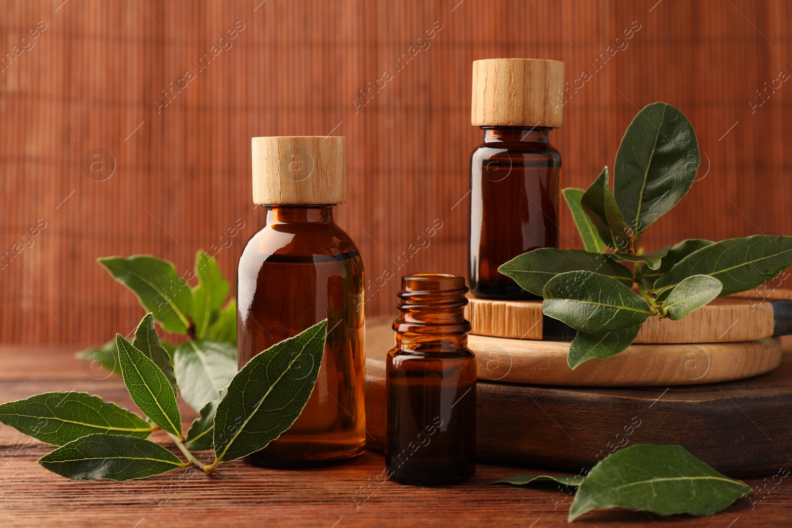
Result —
<svg viewBox="0 0 792 528"><path fill-rule="evenodd" d="M483 127L470 158L470 291L536 298L497 268L532 249L558 247L561 154L550 128Z"/></svg>

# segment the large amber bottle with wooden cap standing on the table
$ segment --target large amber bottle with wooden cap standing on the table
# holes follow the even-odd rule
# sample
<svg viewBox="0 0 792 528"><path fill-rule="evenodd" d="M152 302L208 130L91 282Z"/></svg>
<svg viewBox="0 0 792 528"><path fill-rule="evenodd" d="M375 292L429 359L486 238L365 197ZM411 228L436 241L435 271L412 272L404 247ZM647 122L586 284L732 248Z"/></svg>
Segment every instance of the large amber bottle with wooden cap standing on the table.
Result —
<svg viewBox="0 0 792 528"><path fill-rule="evenodd" d="M254 465L322 465L363 452L363 263L337 226L346 201L345 139L253 138L253 202L264 226L248 241L237 272L239 367L327 318L314 392L278 439L248 457Z"/></svg>

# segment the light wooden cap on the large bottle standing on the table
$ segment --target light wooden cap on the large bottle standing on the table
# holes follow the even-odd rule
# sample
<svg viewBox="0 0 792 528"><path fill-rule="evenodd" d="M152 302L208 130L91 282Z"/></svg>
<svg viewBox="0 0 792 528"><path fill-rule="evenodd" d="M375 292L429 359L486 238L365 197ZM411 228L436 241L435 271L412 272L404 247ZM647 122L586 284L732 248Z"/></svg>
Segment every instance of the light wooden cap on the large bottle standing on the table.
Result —
<svg viewBox="0 0 792 528"><path fill-rule="evenodd" d="M253 138L253 203L318 205L346 202L346 138Z"/></svg>

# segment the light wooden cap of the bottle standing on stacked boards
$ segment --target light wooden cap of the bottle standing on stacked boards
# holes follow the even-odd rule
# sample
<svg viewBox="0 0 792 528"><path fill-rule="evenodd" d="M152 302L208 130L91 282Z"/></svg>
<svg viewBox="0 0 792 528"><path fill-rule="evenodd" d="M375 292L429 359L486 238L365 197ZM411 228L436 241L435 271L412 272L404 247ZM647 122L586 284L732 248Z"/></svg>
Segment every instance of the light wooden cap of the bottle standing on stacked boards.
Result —
<svg viewBox="0 0 792 528"><path fill-rule="evenodd" d="M564 63L546 59L473 62L470 123L477 127L561 127Z"/></svg>

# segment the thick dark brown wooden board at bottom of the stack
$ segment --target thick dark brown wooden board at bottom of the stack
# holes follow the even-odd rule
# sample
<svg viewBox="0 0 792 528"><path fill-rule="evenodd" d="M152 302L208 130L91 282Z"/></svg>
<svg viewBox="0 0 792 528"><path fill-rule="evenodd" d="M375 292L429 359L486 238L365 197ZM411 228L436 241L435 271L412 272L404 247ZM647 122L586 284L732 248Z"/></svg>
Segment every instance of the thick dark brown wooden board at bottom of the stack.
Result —
<svg viewBox="0 0 792 528"><path fill-rule="evenodd" d="M737 478L772 475L792 453L792 340L781 365L739 382L576 388L479 381L478 460L578 472L635 443L680 444ZM367 332L367 446L385 446L386 325Z"/></svg>

